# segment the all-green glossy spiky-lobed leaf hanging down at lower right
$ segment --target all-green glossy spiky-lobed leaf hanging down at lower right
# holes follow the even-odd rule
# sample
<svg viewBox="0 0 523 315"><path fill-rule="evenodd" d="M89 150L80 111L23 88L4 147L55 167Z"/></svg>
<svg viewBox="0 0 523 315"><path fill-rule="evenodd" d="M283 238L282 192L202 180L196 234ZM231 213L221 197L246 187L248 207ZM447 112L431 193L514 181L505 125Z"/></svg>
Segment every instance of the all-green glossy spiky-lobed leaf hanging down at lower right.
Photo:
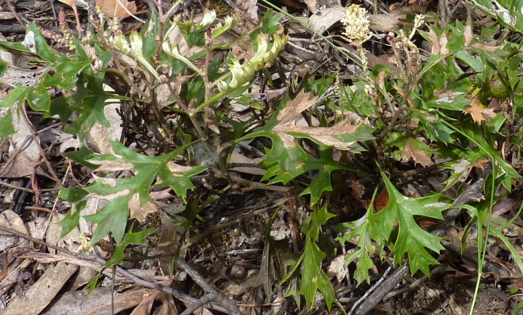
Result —
<svg viewBox="0 0 523 315"><path fill-rule="evenodd" d="M441 212L448 205L438 202L439 194L423 198L405 197L396 190L383 171L381 175L389 192L389 204L382 211L370 215L373 225L371 237L374 240L394 241L391 233L397 224L397 237L393 245L394 263L401 263L407 253L411 273L414 274L419 269L428 275L429 265L438 264L438 261L427 249L439 252L444 248L440 244L440 238L420 228L414 216L443 219Z"/></svg>

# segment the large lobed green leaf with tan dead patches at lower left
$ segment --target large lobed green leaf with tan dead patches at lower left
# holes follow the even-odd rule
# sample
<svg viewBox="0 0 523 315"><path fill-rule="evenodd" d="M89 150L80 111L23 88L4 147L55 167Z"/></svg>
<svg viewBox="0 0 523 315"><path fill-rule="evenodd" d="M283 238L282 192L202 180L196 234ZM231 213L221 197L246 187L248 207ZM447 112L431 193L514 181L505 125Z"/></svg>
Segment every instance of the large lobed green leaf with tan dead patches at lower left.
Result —
<svg viewBox="0 0 523 315"><path fill-rule="evenodd" d="M122 179L96 178L94 184L84 189L62 189L60 192L60 196L70 202L77 202L84 197L99 197L107 201L97 213L85 216L86 220L98 224L91 243L98 242L109 233L120 242L130 209L132 216L138 218L153 212L154 201L150 196L153 184L170 186L179 197L185 199L187 190L194 188L189 178L204 170L201 166L192 168L173 162L185 147L163 156L150 157L131 151L116 141L110 141L109 144L115 154L98 155L88 161L98 165L99 170L132 170L134 176Z"/></svg>

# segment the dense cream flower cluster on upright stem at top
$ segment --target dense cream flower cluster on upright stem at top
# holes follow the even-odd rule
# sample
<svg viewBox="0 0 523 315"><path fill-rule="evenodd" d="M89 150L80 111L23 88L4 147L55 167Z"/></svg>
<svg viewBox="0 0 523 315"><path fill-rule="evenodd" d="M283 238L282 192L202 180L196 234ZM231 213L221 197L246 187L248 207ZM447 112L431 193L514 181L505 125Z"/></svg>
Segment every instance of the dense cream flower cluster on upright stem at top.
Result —
<svg viewBox="0 0 523 315"><path fill-rule="evenodd" d="M351 4L341 21L345 27L343 34L349 38L351 44L359 46L370 39L370 22L365 8Z"/></svg>

